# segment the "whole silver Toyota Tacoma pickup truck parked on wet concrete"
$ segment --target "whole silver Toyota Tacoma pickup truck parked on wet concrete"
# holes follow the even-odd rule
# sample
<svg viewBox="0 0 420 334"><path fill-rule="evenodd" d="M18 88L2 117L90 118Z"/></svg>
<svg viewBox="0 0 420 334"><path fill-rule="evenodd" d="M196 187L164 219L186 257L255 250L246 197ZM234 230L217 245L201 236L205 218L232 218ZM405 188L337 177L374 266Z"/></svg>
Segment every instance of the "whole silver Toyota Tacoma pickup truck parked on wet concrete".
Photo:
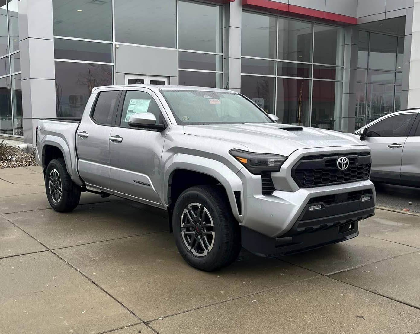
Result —
<svg viewBox="0 0 420 334"><path fill-rule="evenodd" d="M276 120L223 89L97 87L81 119L39 120L36 157L53 209L88 191L167 210L181 256L205 271L241 246L278 256L356 237L375 208L369 148Z"/></svg>

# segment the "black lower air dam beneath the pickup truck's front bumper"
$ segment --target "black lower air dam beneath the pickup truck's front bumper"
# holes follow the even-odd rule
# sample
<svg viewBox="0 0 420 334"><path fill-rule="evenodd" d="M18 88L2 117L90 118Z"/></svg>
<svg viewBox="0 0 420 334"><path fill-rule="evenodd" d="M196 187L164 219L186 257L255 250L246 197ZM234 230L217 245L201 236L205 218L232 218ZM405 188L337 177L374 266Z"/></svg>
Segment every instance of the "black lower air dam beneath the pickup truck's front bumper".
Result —
<svg viewBox="0 0 420 334"><path fill-rule="evenodd" d="M325 245L346 241L359 235L359 221L375 214L375 208L334 217L324 217L312 220L315 228L297 228L302 221L292 227L287 233L277 238L270 238L256 231L242 227L242 247L250 252L268 257L288 255Z"/></svg>

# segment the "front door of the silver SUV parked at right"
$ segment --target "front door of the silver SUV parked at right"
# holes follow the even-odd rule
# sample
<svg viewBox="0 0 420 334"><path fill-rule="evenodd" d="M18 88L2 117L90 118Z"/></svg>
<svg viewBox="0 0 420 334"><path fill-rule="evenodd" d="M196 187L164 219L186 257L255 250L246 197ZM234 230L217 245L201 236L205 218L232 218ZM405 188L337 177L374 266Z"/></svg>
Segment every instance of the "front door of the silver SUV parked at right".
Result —
<svg viewBox="0 0 420 334"><path fill-rule="evenodd" d="M404 143L415 116L396 114L367 128L365 143L372 151L372 179L399 182Z"/></svg>

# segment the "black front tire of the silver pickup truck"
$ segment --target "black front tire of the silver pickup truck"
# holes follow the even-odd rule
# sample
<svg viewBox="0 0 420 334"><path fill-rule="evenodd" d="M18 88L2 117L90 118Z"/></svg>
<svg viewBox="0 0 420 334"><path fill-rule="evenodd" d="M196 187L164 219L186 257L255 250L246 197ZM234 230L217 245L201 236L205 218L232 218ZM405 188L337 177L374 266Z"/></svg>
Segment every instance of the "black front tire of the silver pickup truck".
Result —
<svg viewBox="0 0 420 334"><path fill-rule="evenodd" d="M203 222L203 224L200 224L200 220L197 221L200 226L208 226L209 222L213 221L213 229L211 227L203 227L203 229L199 227L199 231L201 231L202 234L195 234L196 237L198 235L198 240L200 240L199 237L201 236L201 240L203 242L200 243L197 241L200 244L197 246L197 249L202 249L201 245L205 245L205 247L207 247L210 244L210 242L205 243L205 240L203 239L205 237L204 234L207 231L208 235L208 230L214 231L213 237L207 237L210 240L213 240L213 244L210 251L207 251L206 254L205 251L203 251L203 254L205 255L194 255L193 252L198 253L198 250L189 249L186 245L186 243L192 240L186 238L192 238L192 233L196 232L196 226L191 228L184 227L182 229L184 233L186 231L191 233L188 236L181 233L181 219L188 219L184 218L186 217L185 215L183 217L184 210L188 210L188 205L193 205L191 207L192 209L194 206L199 208L197 205L192 203L199 203L207 210L204 219L206 223ZM198 210L199 209L197 209L197 211ZM210 214L211 218L207 217L208 214ZM193 224L194 223L189 225ZM240 226L232 214L226 194L223 192L223 189L220 189L220 187L202 185L186 189L178 197L178 200L175 203L172 226L179 253L184 260L194 268L203 271L214 271L224 266L228 266L236 260L241 250ZM208 248L209 247L207 247L207 249Z"/></svg>

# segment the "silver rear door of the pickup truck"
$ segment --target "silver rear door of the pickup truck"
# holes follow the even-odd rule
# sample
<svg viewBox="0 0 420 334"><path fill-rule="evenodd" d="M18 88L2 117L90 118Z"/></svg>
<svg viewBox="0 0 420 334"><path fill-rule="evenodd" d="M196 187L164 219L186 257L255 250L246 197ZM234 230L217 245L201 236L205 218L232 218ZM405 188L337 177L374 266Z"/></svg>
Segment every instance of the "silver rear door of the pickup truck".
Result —
<svg viewBox="0 0 420 334"><path fill-rule="evenodd" d="M90 113L84 113L76 133L79 174L87 185L109 188L109 137L121 90L97 93Z"/></svg>

